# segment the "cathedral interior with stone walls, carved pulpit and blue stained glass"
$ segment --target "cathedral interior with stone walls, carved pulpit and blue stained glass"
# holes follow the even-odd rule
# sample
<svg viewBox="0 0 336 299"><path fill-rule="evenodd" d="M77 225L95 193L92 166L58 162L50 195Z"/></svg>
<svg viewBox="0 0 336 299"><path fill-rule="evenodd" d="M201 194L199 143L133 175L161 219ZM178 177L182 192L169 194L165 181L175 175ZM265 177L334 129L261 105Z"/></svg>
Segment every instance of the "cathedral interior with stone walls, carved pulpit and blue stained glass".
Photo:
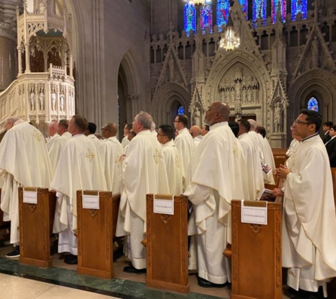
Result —
<svg viewBox="0 0 336 299"><path fill-rule="evenodd" d="M18 8L16 8L18 7ZM255 118L286 147L301 108L336 122L333 0L0 0L0 122L46 132L85 115L98 128L157 124L178 113L204 125L213 101ZM227 26L240 38L219 45ZM122 129L120 134L122 133Z"/></svg>

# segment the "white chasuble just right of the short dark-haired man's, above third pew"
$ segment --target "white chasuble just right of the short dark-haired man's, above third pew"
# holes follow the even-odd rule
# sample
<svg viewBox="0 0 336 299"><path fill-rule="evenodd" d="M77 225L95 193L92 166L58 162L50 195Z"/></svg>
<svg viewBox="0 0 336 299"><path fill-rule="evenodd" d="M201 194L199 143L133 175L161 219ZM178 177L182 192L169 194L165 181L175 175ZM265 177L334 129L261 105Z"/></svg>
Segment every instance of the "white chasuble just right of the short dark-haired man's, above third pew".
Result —
<svg viewBox="0 0 336 299"><path fill-rule="evenodd" d="M190 162L192 160L192 156L195 150L195 143L192 139L192 135L187 128L184 128L178 131L178 136L175 138L175 145L178 149L178 154L180 155L181 159L181 166L183 167L183 190L187 188L190 183L191 179L191 169L190 169Z"/></svg>

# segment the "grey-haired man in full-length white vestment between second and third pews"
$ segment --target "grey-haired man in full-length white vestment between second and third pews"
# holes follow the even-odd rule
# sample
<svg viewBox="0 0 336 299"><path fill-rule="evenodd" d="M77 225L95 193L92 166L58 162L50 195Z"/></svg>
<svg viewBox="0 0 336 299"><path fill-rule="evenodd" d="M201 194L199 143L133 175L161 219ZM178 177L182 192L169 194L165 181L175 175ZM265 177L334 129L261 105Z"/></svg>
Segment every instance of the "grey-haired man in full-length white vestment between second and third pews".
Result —
<svg viewBox="0 0 336 299"><path fill-rule="evenodd" d="M146 194L169 194L166 164L161 145L151 133L153 119L141 111L135 116L133 130L137 135L129 142L122 161L122 196L117 221L117 237L127 236L127 257L132 266L127 273L146 271L146 249L141 244L146 232Z"/></svg>

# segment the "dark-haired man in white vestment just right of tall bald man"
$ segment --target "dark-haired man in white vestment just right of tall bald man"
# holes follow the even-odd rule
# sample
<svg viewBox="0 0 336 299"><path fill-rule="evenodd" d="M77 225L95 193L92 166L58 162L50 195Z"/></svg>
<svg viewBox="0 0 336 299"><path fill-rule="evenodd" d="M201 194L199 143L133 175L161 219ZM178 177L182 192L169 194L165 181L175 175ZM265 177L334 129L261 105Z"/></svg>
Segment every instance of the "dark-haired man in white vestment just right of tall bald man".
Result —
<svg viewBox="0 0 336 299"><path fill-rule="evenodd" d="M245 162L248 174L248 193L251 201L255 201L264 190L264 179L262 177L262 169L260 167L260 156L253 145L248 132L250 131L250 123L248 120L238 120L239 132L238 140L243 148Z"/></svg>

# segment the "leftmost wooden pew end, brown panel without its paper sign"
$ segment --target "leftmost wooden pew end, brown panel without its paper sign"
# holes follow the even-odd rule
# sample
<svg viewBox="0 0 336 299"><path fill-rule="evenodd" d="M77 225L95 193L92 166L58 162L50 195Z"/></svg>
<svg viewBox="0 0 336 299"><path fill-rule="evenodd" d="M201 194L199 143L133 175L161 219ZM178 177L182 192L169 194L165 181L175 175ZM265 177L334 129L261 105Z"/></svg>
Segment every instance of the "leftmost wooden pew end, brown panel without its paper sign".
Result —
<svg viewBox="0 0 336 299"><path fill-rule="evenodd" d="M49 268L50 235L54 222L56 192L47 188L24 188L37 191L37 204L23 202L23 188L18 188L20 264Z"/></svg>

